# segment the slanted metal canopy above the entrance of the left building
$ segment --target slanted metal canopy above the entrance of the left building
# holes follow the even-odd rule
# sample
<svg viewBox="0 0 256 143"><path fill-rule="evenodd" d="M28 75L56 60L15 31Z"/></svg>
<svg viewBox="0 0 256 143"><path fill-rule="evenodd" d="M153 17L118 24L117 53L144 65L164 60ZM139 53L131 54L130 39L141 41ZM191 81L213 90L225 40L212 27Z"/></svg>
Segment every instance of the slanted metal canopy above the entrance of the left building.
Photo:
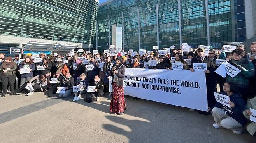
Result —
<svg viewBox="0 0 256 143"><path fill-rule="evenodd" d="M70 52L75 48L78 48L79 45L72 45L68 43L43 43L37 41L29 41L23 48L23 50L28 51L58 51L58 52Z"/></svg>

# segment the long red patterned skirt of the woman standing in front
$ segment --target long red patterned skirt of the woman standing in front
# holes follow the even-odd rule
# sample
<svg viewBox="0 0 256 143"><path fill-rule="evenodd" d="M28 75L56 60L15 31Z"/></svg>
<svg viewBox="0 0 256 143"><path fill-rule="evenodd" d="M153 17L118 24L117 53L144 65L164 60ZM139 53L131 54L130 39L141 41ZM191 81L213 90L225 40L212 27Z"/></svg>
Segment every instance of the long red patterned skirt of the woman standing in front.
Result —
<svg viewBox="0 0 256 143"><path fill-rule="evenodd" d="M124 99L124 87L117 87L117 83L113 83L112 100L110 102L111 113L121 113L126 110Z"/></svg>

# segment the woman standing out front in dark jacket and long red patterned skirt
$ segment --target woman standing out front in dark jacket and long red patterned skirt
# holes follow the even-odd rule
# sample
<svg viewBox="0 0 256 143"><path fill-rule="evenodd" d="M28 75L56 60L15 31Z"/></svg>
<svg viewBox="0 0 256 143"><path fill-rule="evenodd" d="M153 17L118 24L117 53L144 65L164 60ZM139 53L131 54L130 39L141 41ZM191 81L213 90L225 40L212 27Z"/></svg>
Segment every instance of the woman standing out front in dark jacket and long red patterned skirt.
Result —
<svg viewBox="0 0 256 143"><path fill-rule="evenodd" d="M126 110L126 103L124 99L123 80L125 74L125 67L121 63L121 57L117 58L116 65L110 70L109 76L112 76L112 100L110 102L110 112L112 114L122 115Z"/></svg>

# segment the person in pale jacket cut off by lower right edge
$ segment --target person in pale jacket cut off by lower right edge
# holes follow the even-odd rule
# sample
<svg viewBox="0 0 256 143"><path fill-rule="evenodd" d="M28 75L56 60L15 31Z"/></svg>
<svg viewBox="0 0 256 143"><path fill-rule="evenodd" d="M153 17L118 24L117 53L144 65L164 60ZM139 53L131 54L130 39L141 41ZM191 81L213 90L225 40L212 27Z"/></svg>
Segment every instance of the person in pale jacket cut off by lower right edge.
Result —
<svg viewBox="0 0 256 143"><path fill-rule="evenodd" d="M250 108L256 110L256 97L247 100L245 111L243 111L243 114L247 119L250 119L250 116L252 115ZM246 129L252 136L256 136L256 123L250 121L250 124L248 124Z"/></svg>

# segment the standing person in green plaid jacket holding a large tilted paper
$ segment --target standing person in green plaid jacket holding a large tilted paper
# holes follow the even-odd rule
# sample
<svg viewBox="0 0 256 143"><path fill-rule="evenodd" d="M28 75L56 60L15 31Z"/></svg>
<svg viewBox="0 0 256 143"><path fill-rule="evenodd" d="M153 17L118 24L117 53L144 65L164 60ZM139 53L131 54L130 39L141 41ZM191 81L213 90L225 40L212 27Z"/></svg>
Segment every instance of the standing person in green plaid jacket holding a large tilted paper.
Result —
<svg viewBox="0 0 256 143"><path fill-rule="evenodd" d="M229 60L228 63L241 70L241 72L233 78L230 75L227 75L226 82L235 83L243 98L247 100L249 93L249 78L253 77L255 73L254 65L251 61L246 59L245 51L242 49L235 49L231 54L233 55L233 59Z"/></svg>

